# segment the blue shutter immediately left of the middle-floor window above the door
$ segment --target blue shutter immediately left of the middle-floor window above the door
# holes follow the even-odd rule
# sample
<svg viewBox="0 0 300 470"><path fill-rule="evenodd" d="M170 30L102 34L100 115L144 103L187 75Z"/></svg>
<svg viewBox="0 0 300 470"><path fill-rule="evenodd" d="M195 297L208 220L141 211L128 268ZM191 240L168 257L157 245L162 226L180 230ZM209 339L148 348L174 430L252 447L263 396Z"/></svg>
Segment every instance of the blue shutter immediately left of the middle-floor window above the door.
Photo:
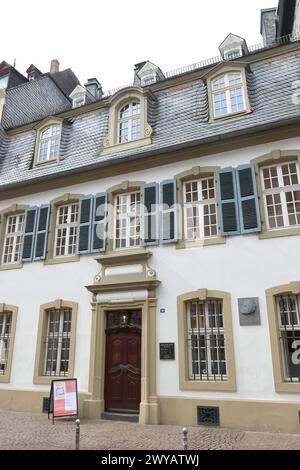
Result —
<svg viewBox="0 0 300 470"><path fill-rule="evenodd" d="M107 231L107 193L99 193L94 197L92 217L92 248L96 253L106 250Z"/></svg>

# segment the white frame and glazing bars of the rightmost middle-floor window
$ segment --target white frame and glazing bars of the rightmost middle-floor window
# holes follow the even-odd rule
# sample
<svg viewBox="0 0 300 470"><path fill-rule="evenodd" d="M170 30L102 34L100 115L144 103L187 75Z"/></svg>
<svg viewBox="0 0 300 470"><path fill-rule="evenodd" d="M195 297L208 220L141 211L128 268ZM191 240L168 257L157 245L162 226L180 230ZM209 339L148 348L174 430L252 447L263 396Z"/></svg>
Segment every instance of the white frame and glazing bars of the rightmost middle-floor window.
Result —
<svg viewBox="0 0 300 470"><path fill-rule="evenodd" d="M260 169L265 217L266 217L266 222L267 222L267 228L270 231L276 231L276 230L282 230L282 229L285 229L285 228L293 228L293 227L299 227L300 226L300 224L290 225L290 223L289 223L289 217L288 217L289 214L288 214L288 210L287 210L287 202L286 202L286 198L285 198L285 193L293 192L293 191L300 191L300 184L299 183L289 185L289 186L284 186L282 166L283 165L289 165L289 164L295 164L296 165L298 182L300 182L299 164L296 160L281 162L281 163L277 163L277 164L274 164L274 165L264 165ZM278 187L270 188L270 189L265 188L265 178L264 178L263 171L266 168L277 168L277 178L278 178L278 183L279 183ZM274 195L274 194L279 194L280 195L280 202L281 202L281 208L282 208L283 225L281 225L279 227L270 227L270 222L269 222L267 196L268 195Z"/></svg>

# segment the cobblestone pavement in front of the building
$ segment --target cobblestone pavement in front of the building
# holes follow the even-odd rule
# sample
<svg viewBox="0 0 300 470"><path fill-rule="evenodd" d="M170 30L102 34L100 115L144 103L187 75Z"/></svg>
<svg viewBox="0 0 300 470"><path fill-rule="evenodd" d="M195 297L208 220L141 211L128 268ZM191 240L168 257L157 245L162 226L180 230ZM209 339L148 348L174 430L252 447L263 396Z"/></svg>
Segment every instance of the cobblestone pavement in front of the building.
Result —
<svg viewBox="0 0 300 470"><path fill-rule="evenodd" d="M189 449L300 449L300 435L222 428L189 428ZM46 414L0 410L0 449L74 449L74 420ZM81 449L181 450L179 426L141 426L104 420L82 420Z"/></svg>

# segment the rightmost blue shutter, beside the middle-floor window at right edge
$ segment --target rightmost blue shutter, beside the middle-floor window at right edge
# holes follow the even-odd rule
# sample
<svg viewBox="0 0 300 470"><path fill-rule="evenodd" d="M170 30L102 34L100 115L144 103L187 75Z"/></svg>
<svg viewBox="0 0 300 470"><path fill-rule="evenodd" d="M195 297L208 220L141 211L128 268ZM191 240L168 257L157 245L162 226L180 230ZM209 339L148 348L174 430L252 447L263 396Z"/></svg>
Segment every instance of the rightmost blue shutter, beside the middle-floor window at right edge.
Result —
<svg viewBox="0 0 300 470"><path fill-rule="evenodd" d="M236 172L241 232L260 232L261 220L254 166L240 165Z"/></svg>

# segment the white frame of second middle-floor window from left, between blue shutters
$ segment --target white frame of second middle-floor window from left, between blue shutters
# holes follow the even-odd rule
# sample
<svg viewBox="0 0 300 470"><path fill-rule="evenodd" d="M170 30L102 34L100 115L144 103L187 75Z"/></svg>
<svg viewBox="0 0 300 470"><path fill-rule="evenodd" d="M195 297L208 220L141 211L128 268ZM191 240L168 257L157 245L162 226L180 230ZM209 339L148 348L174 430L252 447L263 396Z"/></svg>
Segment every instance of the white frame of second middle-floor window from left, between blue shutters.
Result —
<svg viewBox="0 0 300 470"><path fill-rule="evenodd" d="M77 210L74 212L76 214L75 220L72 222L72 208L76 206ZM67 221L66 223L59 223L59 218L61 216L61 209L67 208ZM79 203L73 202L71 204L64 204L61 206L57 207L57 213L56 213L56 226L55 226L55 244L54 244L54 253L53 257L54 258L63 258L65 256L74 256L76 254L76 243L77 243L77 237L78 237L78 212L79 212ZM74 243L70 243L71 238L74 235L71 235L71 229L75 229L75 241ZM57 249L59 248L58 244L58 235L60 234L60 231L66 230L65 234L65 244L64 244L64 249L63 249L63 254L57 254ZM62 238L62 236L60 236ZM72 246L71 253L69 253L69 248ZM60 248L61 250L61 248Z"/></svg>

